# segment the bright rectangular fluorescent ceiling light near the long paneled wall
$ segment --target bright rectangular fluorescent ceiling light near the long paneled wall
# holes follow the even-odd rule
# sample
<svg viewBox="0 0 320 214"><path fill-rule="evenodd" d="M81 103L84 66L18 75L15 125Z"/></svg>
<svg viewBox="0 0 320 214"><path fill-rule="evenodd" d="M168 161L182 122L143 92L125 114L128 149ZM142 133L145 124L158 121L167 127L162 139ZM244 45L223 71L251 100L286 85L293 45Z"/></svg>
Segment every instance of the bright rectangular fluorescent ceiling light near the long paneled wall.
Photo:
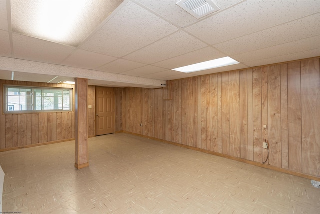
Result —
<svg viewBox="0 0 320 214"><path fill-rule="evenodd" d="M238 61L232 59L231 57L222 57L222 58L209 60L201 63L195 63L192 65L174 68L172 70L189 73L189 72L202 71L202 70L211 69L211 68L218 68L222 66L234 65L238 63L239 63Z"/></svg>

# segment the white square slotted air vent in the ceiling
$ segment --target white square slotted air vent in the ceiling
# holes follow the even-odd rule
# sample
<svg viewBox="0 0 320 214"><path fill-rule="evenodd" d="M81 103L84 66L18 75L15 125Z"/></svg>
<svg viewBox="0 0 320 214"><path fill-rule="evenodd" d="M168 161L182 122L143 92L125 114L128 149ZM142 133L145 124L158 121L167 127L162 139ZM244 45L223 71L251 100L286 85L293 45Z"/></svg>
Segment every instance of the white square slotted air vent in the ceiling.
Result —
<svg viewBox="0 0 320 214"><path fill-rule="evenodd" d="M180 0L176 4L197 19L220 9L212 0Z"/></svg>

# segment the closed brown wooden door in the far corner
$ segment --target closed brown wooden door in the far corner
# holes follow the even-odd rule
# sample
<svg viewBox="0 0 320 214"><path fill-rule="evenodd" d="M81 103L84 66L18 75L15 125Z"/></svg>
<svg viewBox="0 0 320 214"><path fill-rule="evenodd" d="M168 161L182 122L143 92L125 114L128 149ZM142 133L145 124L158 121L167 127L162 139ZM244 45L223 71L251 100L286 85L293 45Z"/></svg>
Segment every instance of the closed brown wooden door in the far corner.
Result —
<svg viewBox="0 0 320 214"><path fill-rule="evenodd" d="M95 88L96 135L111 134L115 130L114 89Z"/></svg>

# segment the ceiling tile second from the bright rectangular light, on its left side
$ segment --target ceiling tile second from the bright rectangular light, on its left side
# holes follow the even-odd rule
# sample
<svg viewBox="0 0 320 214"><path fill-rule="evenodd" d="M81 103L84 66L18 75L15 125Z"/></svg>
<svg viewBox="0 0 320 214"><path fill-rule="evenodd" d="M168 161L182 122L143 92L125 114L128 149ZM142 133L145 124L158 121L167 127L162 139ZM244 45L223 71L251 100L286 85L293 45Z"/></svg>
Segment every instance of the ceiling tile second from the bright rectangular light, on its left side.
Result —
<svg viewBox="0 0 320 214"><path fill-rule="evenodd" d="M195 51L205 46L207 45L195 37L192 37L184 31L178 31L124 58L145 64L152 64Z"/></svg>

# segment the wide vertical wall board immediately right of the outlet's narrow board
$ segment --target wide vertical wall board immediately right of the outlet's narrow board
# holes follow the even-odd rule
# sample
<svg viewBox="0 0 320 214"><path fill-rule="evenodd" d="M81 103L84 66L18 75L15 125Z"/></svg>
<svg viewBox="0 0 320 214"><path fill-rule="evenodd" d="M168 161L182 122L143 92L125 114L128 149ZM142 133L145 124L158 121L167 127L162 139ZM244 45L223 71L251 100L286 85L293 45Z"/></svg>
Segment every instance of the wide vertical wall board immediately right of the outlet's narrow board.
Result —
<svg viewBox="0 0 320 214"><path fill-rule="evenodd" d="M281 167L280 65L268 66L269 164Z"/></svg>

